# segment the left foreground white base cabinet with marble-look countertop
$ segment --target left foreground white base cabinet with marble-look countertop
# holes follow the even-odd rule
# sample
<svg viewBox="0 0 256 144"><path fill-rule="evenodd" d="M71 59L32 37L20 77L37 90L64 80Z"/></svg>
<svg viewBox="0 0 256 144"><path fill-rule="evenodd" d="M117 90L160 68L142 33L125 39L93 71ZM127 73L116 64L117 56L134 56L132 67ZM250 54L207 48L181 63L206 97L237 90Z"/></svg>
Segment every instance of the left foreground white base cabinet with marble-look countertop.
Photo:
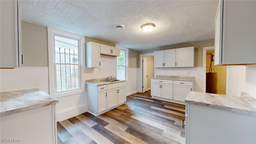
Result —
<svg viewBox="0 0 256 144"><path fill-rule="evenodd" d="M0 93L1 143L57 143L56 103L39 89Z"/></svg>

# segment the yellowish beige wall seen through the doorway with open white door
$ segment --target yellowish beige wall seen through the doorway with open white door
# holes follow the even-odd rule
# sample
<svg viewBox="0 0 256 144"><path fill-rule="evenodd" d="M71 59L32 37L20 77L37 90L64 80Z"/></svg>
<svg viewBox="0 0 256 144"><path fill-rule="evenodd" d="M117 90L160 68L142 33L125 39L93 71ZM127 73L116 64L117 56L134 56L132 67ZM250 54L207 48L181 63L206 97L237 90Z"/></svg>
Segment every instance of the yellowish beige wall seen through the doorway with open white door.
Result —
<svg viewBox="0 0 256 144"><path fill-rule="evenodd" d="M145 56L147 58L147 88L151 88L151 78L154 77L154 56Z"/></svg>

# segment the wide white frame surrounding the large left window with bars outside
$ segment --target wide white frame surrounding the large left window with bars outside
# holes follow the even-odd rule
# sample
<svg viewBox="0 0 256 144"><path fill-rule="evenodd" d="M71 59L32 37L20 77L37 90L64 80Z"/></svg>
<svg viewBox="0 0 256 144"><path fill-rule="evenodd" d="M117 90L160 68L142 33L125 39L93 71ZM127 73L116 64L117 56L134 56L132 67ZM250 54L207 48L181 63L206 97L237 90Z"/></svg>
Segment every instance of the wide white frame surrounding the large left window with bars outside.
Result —
<svg viewBox="0 0 256 144"><path fill-rule="evenodd" d="M79 75L80 75L80 88L74 90L66 90L57 92L56 90L56 71L55 71L55 35L62 36L66 38L72 38L75 40L79 40L78 43L78 59L79 59ZM54 29L48 27L48 63L49 63L49 93L51 96L55 98L63 97L63 96L70 96L74 94L80 94L85 92L85 80L83 77L83 68L84 68L84 36L80 36L77 34L73 34L70 32L65 32L62 30Z"/></svg>

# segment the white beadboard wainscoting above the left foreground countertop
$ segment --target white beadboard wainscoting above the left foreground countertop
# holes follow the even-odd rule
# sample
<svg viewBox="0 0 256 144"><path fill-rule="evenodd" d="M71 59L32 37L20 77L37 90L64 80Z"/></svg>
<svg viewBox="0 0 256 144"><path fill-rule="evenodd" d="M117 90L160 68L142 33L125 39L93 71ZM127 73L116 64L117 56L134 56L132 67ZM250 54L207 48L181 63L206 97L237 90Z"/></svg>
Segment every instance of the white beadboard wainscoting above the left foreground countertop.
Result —
<svg viewBox="0 0 256 144"><path fill-rule="evenodd" d="M39 88L49 94L48 67L0 69L0 92Z"/></svg>

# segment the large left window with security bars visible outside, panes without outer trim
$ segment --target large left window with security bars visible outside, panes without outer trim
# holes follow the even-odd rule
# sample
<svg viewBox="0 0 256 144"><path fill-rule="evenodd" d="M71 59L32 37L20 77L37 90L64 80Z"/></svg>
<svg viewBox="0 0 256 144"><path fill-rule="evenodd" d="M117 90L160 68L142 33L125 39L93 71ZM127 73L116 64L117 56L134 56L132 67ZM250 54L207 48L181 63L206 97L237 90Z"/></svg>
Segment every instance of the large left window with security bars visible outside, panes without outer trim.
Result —
<svg viewBox="0 0 256 144"><path fill-rule="evenodd" d="M80 89L79 40L54 36L56 92Z"/></svg>

